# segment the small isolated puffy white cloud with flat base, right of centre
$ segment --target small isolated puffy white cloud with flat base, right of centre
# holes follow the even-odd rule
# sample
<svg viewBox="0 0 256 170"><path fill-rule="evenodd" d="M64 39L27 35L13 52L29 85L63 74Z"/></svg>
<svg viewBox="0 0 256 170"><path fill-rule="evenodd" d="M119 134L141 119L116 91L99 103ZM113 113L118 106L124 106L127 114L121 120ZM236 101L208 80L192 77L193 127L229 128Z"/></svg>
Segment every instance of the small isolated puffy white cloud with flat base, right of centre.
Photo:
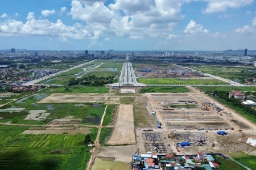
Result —
<svg viewBox="0 0 256 170"><path fill-rule="evenodd" d="M208 29L204 29L202 24L196 24L195 21L191 20L184 30L188 34L199 34L199 33L209 33Z"/></svg>

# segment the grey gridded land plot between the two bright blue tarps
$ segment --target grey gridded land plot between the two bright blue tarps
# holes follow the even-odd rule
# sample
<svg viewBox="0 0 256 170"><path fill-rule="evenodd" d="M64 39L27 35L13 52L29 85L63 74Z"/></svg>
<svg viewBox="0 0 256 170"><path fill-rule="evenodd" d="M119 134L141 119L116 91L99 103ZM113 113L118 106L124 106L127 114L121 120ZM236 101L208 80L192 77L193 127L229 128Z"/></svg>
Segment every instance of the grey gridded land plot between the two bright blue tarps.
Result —
<svg viewBox="0 0 256 170"><path fill-rule="evenodd" d="M204 133L200 132L176 132L175 137L180 141L189 141L189 142L197 142L197 141L207 141L207 137Z"/></svg>

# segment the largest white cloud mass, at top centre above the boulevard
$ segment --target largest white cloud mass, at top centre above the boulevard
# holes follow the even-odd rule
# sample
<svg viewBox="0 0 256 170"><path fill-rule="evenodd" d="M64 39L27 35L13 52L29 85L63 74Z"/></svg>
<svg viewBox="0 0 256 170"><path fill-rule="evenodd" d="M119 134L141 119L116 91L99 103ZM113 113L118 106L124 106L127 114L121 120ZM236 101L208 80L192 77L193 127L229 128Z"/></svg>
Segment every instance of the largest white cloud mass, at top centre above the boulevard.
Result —
<svg viewBox="0 0 256 170"><path fill-rule="evenodd" d="M85 21L88 29L141 39L168 35L183 19L181 5L181 1L170 0L116 0L105 6L97 0L73 0L68 14Z"/></svg>

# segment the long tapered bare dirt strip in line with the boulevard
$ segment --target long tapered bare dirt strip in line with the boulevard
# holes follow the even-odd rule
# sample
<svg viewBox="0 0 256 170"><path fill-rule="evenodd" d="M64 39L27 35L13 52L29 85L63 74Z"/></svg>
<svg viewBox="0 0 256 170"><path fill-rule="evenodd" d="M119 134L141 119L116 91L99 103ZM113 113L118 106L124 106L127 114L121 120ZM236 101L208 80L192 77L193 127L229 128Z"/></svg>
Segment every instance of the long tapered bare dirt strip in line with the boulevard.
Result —
<svg viewBox="0 0 256 170"><path fill-rule="evenodd" d="M119 105L117 122L114 126L113 133L107 143L109 145L123 145L135 143L133 105Z"/></svg>

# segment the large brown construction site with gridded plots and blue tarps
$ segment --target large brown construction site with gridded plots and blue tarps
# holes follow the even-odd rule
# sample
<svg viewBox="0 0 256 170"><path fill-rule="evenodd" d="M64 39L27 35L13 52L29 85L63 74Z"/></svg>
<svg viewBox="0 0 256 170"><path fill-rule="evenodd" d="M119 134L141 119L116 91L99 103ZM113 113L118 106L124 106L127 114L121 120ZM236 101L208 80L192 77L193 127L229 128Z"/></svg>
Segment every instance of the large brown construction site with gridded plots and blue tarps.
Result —
<svg viewBox="0 0 256 170"><path fill-rule="evenodd" d="M157 125L155 128L148 126L150 129L137 128L139 153L175 152L177 155L187 155L199 151L220 151L225 150L222 145L224 136L234 137L240 134L246 138L252 133L253 127L246 121L241 121L232 109L195 91L182 94L146 94L152 109L148 110L148 117L154 117ZM217 131L223 130L225 135L217 134ZM230 146L236 146L240 142L238 138L236 140L230 141ZM241 148L250 151L246 143L241 143Z"/></svg>

